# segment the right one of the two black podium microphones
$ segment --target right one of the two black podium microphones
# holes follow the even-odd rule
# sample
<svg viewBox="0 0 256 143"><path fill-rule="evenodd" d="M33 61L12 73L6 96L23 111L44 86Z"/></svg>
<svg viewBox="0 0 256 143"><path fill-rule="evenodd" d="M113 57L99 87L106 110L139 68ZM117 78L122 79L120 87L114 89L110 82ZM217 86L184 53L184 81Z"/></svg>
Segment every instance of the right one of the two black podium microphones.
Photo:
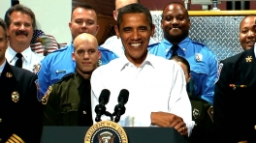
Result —
<svg viewBox="0 0 256 143"><path fill-rule="evenodd" d="M114 106L114 112L112 113L112 116L115 116L114 122L117 123L120 120L121 115L125 112L125 106L124 104L128 101L129 98L129 91L126 89L122 89L120 91L120 94L118 96L118 104Z"/></svg>

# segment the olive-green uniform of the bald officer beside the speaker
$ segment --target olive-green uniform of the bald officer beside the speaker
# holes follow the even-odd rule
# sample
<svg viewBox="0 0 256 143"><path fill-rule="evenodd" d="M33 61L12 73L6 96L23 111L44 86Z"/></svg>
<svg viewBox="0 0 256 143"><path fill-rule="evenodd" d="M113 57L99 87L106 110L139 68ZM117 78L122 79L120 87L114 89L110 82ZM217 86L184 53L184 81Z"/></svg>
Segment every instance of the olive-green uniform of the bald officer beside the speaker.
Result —
<svg viewBox="0 0 256 143"><path fill-rule="evenodd" d="M45 126L92 126L90 80L78 72L48 87L41 100Z"/></svg>

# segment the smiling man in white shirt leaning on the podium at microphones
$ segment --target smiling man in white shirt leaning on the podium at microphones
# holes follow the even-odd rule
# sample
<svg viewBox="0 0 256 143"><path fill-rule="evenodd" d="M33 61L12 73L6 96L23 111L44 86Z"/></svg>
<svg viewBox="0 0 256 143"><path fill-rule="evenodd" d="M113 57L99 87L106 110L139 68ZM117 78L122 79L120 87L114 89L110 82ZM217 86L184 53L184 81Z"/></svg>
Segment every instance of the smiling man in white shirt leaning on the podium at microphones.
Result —
<svg viewBox="0 0 256 143"><path fill-rule="evenodd" d="M187 136L191 128L185 123L192 121L192 113L184 73L176 62L147 51L154 29L151 14L144 6L130 4L120 10L115 32L122 40L125 57L92 73L92 109L99 104L101 91L108 89L111 96L106 107L109 112L114 111L119 92L126 89L129 100L120 118L121 126L170 127ZM94 112L92 117L96 117ZM108 119L102 116L102 120Z"/></svg>

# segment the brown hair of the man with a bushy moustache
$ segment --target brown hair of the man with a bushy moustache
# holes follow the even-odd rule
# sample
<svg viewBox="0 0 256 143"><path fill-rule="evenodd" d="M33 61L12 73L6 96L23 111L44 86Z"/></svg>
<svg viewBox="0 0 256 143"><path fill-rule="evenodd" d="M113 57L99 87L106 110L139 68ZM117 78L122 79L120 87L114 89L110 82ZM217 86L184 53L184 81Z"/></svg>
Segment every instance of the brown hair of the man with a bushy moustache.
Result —
<svg viewBox="0 0 256 143"><path fill-rule="evenodd" d="M32 19L32 27L33 27L33 29L36 28L36 16L35 16L35 14L28 7L25 7L25 6L20 5L20 4L16 4L15 6L11 7L6 12L6 14L5 14L5 22L7 24L7 27L10 27L10 25L11 25L11 14L13 14L14 12L21 12L23 14L30 15L30 17Z"/></svg>

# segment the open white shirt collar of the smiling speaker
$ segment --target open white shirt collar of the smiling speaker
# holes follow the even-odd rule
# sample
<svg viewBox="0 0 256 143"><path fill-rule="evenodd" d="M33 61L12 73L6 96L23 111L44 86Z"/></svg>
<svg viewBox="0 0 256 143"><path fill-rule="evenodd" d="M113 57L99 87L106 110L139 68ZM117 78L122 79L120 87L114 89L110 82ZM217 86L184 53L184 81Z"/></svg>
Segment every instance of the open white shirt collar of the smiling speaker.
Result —
<svg viewBox="0 0 256 143"><path fill-rule="evenodd" d="M145 59L144 59L144 62L143 62L143 64L140 66L140 68L143 68L144 67L144 65L146 65L146 64L149 64L149 65L151 65L151 66L153 66L153 62L152 62L152 54L150 54L148 51L147 51L147 55L146 55L146 57L145 57ZM118 60L120 60L120 62L119 62L119 65L117 65L119 68L119 70L120 71L122 71L122 70L124 70L125 69L125 67L126 66L129 66L129 65L133 65L134 66L134 64L133 63L131 63L127 58L126 58L126 56L124 56L124 57L121 57L121 58L118 58Z"/></svg>

